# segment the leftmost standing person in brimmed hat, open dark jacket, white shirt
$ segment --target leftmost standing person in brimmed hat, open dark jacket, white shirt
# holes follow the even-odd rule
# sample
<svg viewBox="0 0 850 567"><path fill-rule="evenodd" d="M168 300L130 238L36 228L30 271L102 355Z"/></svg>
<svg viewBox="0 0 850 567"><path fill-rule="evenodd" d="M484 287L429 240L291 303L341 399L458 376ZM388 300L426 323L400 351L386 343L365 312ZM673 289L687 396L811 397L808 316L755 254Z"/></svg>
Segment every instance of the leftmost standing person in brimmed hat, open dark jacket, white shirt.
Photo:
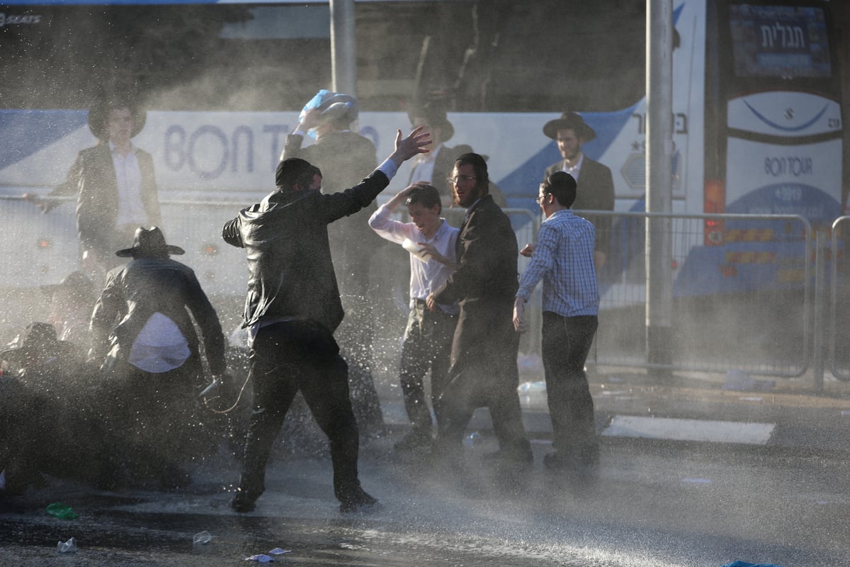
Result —
<svg viewBox="0 0 850 567"><path fill-rule="evenodd" d="M160 224L153 158L131 141L145 118L132 96L100 95L88 109L88 129L98 144L82 150L65 182L48 194L77 195L77 235L88 271L116 266L113 252L137 226ZM25 197L45 213L60 202Z"/></svg>

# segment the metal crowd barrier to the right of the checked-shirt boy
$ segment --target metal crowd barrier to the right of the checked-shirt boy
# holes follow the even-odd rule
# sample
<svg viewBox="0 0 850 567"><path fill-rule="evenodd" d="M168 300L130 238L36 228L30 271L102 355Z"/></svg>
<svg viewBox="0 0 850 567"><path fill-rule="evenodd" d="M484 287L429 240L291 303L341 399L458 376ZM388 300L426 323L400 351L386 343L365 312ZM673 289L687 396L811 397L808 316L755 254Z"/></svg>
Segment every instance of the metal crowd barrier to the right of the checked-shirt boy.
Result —
<svg viewBox="0 0 850 567"><path fill-rule="evenodd" d="M796 377L810 364L811 226L796 215L592 213L612 217L598 269L599 365ZM647 358L644 244L649 218L666 219L662 251L672 286L669 364Z"/></svg>

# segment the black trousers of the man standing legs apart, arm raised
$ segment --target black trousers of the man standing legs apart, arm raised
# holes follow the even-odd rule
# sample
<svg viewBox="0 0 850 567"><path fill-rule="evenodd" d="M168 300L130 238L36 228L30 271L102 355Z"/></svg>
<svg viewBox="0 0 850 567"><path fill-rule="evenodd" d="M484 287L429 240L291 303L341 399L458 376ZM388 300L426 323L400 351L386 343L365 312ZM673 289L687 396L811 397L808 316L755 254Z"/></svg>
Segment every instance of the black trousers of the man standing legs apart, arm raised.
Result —
<svg viewBox="0 0 850 567"><path fill-rule="evenodd" d="M332 333L310 320L264 326L250 357L254 400L239 488L252 498L265 490L269 453L300 390L330 441L334 494L342 502L356 496L359 435L348 397L348 366Z"/></svg>

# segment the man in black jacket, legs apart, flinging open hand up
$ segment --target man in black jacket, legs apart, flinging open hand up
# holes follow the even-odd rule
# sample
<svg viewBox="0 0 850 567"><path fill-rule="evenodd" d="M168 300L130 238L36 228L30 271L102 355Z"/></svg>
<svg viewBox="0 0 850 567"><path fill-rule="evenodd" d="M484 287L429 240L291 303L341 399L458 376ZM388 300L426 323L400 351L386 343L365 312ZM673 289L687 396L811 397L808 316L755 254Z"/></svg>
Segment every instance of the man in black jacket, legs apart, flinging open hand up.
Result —
<svg viewBox="0 0 850 567"><path fill-rule="evenodd" d="M269 452L299 390L330 441L340 511L377 503L360 486L348 366L333 337L344 313L328 224L371 204L398 167L428 151L429 143L422 128L405 139L399 130L388 159L353 189L338 193L320 192L317 167L285 159L275 173L277 190L224 224L224 241L245 248L249 272L243 326L251 337L254 400L239 488L230 503L236 512L250 512L263 494Z"/></svg>

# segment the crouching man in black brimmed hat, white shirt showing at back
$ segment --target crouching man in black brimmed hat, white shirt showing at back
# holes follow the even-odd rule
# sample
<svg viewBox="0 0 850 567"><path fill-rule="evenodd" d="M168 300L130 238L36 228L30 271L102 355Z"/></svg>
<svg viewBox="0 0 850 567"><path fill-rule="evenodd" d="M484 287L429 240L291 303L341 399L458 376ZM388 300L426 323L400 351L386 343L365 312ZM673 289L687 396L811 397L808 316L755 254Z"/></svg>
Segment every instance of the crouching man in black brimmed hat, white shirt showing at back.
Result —
<svg viewBox="0 0 850 567"><path fill-rule="evenodd" d="M104 360L117 389L116 414L107 418L127 443L139 443L129 453L139 455L135 472L175 488L190 481L179 463L195 456L193 435L203 429L195 388L206 380L190 313L213 377L224 375L224 335L195 272L169 258L184 250L166 244L160 229L139 227L133 247L115 253L133 259L106 275L91 320L92 356Z"/></svg>

